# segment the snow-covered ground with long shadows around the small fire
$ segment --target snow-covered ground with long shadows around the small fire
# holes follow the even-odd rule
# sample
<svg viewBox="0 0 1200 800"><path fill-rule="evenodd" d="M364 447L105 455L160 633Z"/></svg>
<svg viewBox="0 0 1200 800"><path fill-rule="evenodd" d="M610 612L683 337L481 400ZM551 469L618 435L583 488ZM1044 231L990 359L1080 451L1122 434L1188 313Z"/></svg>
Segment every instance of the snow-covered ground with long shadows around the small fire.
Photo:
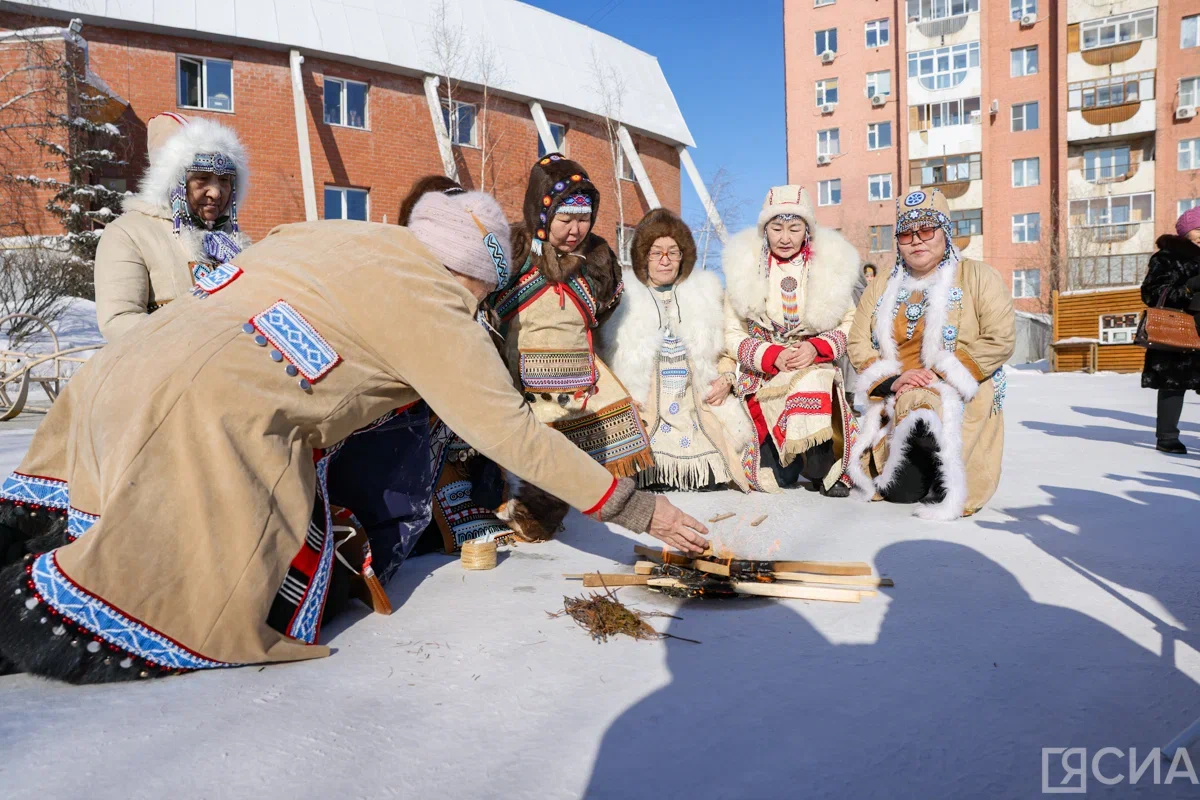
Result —
<svg viewBox="0 0 1200 800"><path fill-rule="evenodd" d="M631 563L631 537L572 515L491 572L406 564L396 613L338 620L323 661L0 679L0 795L1038 796L1042 747L1141 759L1200 716L1200 457L1154 451L1153 408L1136 375L1014 371L1003 483L960 523L803 489L677 495L706 519L737 512L714 533L748 554L778 540L779 558L870 561L896 582L859 606L620 590L702 644L601 645L550 619L580 591L562 573ZM1200 450L1194 395L1183 429ZM28 438L0 427L0 467ZM1148 783L1105 796L1200 792Z"/></svg>

